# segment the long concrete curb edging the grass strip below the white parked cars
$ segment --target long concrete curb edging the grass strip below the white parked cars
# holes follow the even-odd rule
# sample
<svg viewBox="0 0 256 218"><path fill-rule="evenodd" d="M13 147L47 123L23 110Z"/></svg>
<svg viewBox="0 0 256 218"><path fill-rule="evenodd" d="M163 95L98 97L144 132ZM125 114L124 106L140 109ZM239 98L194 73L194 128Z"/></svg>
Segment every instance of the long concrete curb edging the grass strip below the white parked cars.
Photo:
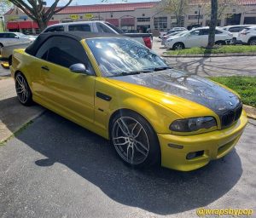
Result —
<svg viewBox="0 0 256 218"><path fill-rule="evenodd" d="M256 56L256 52L249 52L249 53L219 53L219 54L161 54L162 57L183 57L183 58L198 58L198 57L230 57L230 56Z"/></svg>

